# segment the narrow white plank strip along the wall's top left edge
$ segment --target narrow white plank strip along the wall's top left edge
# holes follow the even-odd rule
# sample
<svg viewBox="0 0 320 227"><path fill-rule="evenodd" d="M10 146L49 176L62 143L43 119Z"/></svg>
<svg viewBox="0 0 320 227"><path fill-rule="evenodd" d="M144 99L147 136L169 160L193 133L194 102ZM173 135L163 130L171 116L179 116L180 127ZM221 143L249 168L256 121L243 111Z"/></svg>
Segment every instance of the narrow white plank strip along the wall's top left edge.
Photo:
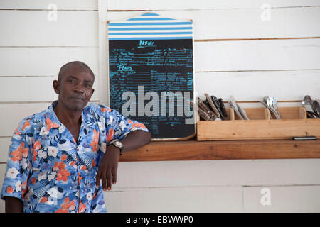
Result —
<svg viewBox="0 0 320 227"><path fill-rule="evenodd" d="M97 10L97 0L1 0L0 9L48 9L50 4L58 10Z"/></svg>

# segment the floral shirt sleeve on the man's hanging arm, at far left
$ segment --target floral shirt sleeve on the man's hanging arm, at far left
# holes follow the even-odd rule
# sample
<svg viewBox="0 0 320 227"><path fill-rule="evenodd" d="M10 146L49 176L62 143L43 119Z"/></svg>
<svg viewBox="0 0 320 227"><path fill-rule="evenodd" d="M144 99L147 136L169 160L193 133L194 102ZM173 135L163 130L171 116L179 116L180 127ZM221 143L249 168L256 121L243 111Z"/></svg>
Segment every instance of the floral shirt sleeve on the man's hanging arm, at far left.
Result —
<svg viewBox="0 0 320 227"><path fill-rule="evenodd" d="M26 194L28 174L30 172L28 164L31 156L27 139L27 136L31 135L28 133L30 128L29 119L21 121L11 138L4 183L1 189L1 199L4 199L4 196L11 196L23 200L24 194Z"/></svg>

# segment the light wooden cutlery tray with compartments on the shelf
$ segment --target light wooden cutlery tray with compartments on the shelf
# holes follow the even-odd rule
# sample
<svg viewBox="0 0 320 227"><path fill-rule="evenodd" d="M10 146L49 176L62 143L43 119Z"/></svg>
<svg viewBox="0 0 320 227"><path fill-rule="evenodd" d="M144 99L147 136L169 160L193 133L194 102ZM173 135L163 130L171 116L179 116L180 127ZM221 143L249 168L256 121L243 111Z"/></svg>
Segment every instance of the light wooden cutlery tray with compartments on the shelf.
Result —
<svg viewBox="0 0 320 227"><path fill-rule="evenodd" d="M281 120L267 108L247 108L250 120L240 120L227 108L224 121L202 121L198 117L197 140L270 140L314 135L320 138L320 119L306 118L304 107L279 107Z"/></svg>

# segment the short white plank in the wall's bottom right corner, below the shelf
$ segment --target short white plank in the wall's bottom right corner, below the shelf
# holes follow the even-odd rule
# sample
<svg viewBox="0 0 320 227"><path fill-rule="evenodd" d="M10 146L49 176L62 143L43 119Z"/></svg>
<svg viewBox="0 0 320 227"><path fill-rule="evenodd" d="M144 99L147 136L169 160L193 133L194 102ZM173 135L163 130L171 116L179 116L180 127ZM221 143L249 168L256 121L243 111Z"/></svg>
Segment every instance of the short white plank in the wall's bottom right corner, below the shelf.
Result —
<svg viewBox="0 0 320 227"><path fill-rule="evenodd" d="M266 198L269 195L270 205ZM320 185L245 187L244 209L245 212L320 212Z"/></svg>

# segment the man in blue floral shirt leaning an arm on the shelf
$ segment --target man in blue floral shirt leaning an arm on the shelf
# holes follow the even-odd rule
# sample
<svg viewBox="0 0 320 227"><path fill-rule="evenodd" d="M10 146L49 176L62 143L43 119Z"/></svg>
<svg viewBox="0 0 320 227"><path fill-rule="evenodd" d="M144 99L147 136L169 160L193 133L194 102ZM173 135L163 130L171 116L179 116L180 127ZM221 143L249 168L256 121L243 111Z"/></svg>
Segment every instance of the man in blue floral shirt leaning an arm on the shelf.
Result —
<svg viewBox="0 0 320 227"><path fill-rule="evenodd" d="M119 156L151 134L105 105L87 105L94 80L85 63L63 65L53 81L58 101L18 125L1 192L6 212L106 212L102 190L117 182Z"/></svg>

